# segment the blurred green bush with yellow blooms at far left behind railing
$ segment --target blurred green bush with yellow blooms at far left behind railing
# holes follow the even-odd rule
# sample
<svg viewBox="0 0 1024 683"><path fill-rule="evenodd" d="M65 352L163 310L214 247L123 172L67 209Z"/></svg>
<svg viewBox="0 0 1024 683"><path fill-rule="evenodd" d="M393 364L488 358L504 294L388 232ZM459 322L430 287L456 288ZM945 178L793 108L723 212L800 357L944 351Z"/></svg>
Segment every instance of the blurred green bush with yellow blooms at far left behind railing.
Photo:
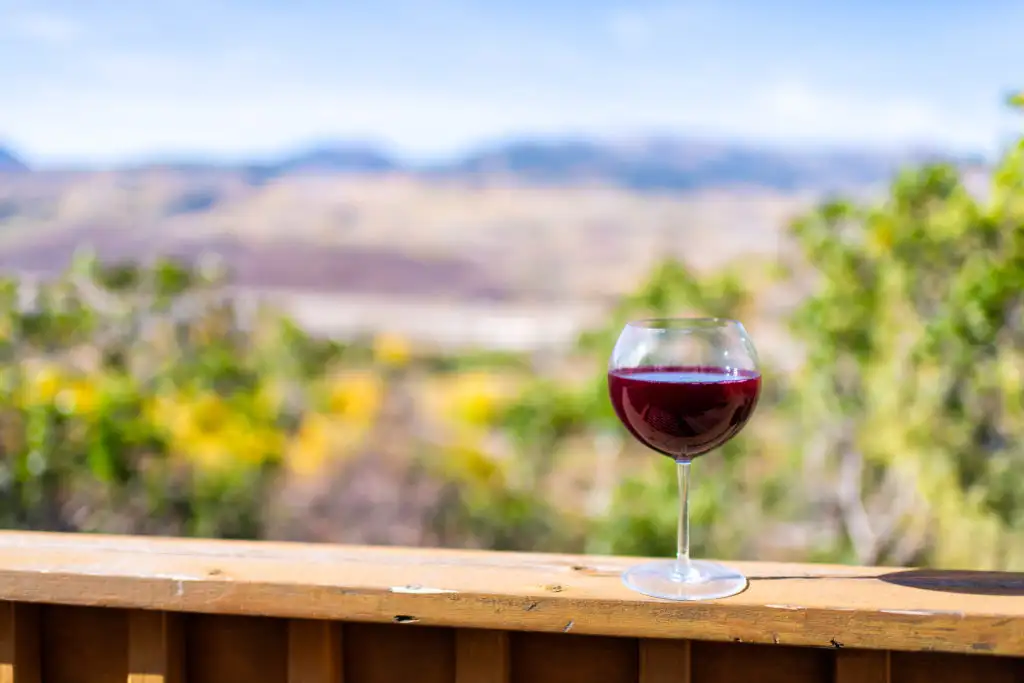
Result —
<svg viewBox="0 0 1024 683"><path fill-rule="evenodd" d="M0 284L0 524L262 533L281 413L218 284L86 253L28 307Z"/></svg>

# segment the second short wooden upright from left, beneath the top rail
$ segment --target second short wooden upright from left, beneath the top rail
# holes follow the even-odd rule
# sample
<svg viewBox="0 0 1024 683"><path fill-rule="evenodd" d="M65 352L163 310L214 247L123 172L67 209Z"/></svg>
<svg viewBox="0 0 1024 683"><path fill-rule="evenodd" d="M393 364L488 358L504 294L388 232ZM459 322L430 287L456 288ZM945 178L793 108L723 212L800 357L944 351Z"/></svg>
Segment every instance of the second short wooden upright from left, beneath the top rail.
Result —
<svg viewBox="0 0 1024 683"><path fill-rule="evenodd" d="M136 609L128 613L128 683L182 683L183 616Z"/></svg>

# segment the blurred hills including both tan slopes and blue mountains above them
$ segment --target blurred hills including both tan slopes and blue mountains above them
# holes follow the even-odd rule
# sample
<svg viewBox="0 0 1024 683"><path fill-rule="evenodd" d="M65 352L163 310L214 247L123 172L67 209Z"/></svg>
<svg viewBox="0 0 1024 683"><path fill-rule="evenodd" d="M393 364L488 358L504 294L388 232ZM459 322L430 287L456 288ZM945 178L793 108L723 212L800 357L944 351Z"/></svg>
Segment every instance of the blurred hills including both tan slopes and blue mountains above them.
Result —
<svg viewBox="0 0 1024 683"><path fill-rule="evenodd" d="M0 267L52 272L91 246L112 260L216 253L251 288L608 301L664 256L712 268L777 252L815 198L873 191L921 158L660 138L510 141L429 165L362 143L234 166L8 161L22 172L0 183Z"/></svg>

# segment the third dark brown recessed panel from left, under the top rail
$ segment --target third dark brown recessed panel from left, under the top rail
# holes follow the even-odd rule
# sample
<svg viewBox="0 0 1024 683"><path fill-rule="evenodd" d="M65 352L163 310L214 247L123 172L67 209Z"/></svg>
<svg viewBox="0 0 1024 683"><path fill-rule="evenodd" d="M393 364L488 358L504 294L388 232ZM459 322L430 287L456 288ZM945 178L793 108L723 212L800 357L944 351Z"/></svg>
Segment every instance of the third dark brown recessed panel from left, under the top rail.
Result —
<svg viewBox="0 0 1024 683"><path fill-rule="evenodd" d="M455 631L345 625L345 683L452 683Z"/></svg>

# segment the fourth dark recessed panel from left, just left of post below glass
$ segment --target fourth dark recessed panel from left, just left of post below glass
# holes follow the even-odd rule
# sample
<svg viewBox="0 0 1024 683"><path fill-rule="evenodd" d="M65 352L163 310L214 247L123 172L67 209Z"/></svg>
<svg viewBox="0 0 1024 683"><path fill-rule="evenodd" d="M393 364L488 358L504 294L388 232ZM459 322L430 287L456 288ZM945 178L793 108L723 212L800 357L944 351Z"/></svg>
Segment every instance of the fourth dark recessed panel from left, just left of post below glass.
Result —
<svg viewBox="0 0 1024 683"><path fill-rule="evenodd" d="M511 636L512 683L635 683L637 641L632 638L550 633Z"/></svg>

